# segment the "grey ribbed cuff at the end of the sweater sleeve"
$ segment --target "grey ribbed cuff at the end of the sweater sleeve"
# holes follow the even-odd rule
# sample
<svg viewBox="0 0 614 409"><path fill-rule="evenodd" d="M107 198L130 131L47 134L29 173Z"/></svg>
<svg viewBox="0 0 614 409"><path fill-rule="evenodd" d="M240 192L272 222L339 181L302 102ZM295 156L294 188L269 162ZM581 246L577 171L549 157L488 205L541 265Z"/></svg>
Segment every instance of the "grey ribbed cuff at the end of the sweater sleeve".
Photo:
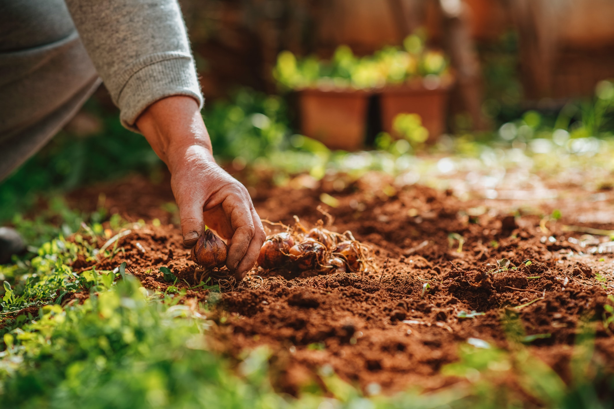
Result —
<svg viewBox="0 0 614 409"><path fill-rule="evenodd" d="M200 108L203 107L204 99L190 55L158 53L136 63L138 65L132 64L120 75L125 85L116 101L121 110L120 120L126 128L139 132L134 125L139 115L153 102L168 96L191 96Z"/></svg>

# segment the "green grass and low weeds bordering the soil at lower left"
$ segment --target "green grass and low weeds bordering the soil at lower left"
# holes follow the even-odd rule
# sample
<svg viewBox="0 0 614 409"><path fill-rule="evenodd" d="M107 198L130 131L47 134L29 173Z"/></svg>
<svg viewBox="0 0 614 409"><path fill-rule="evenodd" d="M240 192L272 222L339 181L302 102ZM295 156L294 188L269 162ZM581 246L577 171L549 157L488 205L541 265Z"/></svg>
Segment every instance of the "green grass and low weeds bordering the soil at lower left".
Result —
<svg viewBox="0 0 614 409"><path fill-rule="evenodd" d="M320 374L328 397L317 386L300 399L277 394L268 348L245 351L239 362L208 351L206 334L216 323L208 307L178 304L185 291L148 292L122 266L74 273L69 264L78 254L93 257L95 236L94 226L82 227L76 240L56 237L36 257L0 266L2 407L273 409L325 401L348 408L434 408L459 398L454 391L414 391L371 402L329 367ZM68 291L90 297L61 307ZM21 311L25 307L34 308Z"/></svg>

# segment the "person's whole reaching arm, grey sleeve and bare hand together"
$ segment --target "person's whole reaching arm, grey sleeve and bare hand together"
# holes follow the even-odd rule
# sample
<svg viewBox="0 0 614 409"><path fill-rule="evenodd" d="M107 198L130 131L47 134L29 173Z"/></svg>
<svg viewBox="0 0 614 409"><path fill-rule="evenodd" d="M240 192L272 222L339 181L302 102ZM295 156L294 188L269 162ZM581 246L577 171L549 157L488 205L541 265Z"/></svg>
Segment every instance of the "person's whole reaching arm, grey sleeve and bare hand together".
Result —
<svg viewBox="0 0 614 409"><path fill-rule="evenodd" d="M67 0L69 11L120 120L141 132L171 171L185 245L205 224L228 239L237 278L265 234L249 194L213 159L200 115L203 98L175 0Z"/></svg>

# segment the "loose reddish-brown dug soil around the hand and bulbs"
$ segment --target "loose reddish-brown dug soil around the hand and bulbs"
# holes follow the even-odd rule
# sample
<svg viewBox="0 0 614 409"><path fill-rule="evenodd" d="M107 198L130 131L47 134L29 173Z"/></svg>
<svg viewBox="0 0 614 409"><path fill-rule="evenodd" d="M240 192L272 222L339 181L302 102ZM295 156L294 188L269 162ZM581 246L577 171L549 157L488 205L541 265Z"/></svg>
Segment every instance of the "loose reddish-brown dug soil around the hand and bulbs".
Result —
<svg viewBox="0 0 614 409"><path fill-rule="evenodd" d="M317 384L317 369L326 364L362 388L376 382L388 392L410 385L437 389L459 381L439 373L458 358L459 343L473 337L505 348L509 341L502 322L517 317L527 335L550 334L531 342L530 350L569 380L568 346L580 319L602 315L612 292L614 262L610 254L586 254L589 247L573 240L583 233L562 230L566 223L578 224L578 215L570 211L540 227L540 213L549 214L558 204L534 204L538 210L514 218L508 210L518 205L510 201L461 202L449 191L421 186L387 196L378 187L385 183L367 175L341 192L326 183L317 189L258 186L254 203L259 215L286 224L298 215L313 225L322 218L316 211L320 194L334 193L340 204L327 208L334 217L331 229L350 230L370 245L378 270L292 277L286 271L254 269L209 311L217 323L211 348L236 357L246 348L270 345L276 386L291 394ZM106 197L126 218L149 215L168 223L171 215L160 205L168 201L169 189L158 187L144 180L126 182L108 188ZM81 196L88 194L93 193ZM118 199L126 197L139 197L149 208ZM481 212L469 210L483 205ZM134 208L136 216L131 215ZM462 248L450 233L464 237ZM134 230L119 240L119 247L123 251L98 267L114 269L126 261L143 285L154 289L168 286L160 266L173 270L180 287L186 286L183 280L200 282L201 272L189 260L177 226ZM507 270L497 266L503 258L510 260ZM88 265L78 260L74 267ZM204 300L207 294L190 290L187 297ZM459 318L472 311L484 315ZM608 367L614 363L612 330L597 323L596 353Z"/></svg>

